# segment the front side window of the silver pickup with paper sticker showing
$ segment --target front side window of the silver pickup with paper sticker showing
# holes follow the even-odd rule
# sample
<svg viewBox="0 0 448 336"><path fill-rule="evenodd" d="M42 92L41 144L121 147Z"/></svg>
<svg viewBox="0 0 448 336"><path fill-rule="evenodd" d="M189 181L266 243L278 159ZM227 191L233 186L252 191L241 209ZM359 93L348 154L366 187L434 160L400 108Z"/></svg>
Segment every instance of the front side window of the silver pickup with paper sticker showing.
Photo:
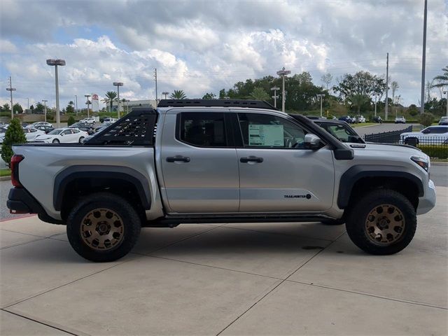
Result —
<svg viewBox="0 0 448 336"><path fill-rule="evenodd" d="M239 113L244 147L302 148L307 134L289 120L269 114Z"/></svg>

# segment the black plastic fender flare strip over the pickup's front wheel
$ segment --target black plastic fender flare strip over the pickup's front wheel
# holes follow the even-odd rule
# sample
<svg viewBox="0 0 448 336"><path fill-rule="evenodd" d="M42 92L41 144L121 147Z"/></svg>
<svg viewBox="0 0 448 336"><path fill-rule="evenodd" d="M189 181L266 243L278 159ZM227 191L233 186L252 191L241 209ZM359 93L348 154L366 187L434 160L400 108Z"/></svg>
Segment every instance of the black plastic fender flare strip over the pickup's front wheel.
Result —
<svg viewBox="0 0 448 336"><path fill-rule="evenodd" d="M392 177L407 179L419 190L419 197L424 195L423 182L418 176L403 172L399 166L356 165L342 174L337 194L337 207L345 209L349 205L351 190L356 182L365 177Z"/></svg>

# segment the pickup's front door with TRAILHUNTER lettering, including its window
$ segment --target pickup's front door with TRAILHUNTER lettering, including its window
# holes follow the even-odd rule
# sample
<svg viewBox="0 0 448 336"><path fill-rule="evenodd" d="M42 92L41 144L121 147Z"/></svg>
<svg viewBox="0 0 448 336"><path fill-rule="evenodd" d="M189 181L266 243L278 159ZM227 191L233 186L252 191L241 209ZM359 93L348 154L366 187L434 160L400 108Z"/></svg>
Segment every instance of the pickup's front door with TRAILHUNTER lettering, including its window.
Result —
<svg viewBox="0 0 448 336"><path fill-rule="evenodd" d="M332 205L334 167L328 146L303 146L307 131L269 113L238 113L240 212L323 211Z"/></svg>

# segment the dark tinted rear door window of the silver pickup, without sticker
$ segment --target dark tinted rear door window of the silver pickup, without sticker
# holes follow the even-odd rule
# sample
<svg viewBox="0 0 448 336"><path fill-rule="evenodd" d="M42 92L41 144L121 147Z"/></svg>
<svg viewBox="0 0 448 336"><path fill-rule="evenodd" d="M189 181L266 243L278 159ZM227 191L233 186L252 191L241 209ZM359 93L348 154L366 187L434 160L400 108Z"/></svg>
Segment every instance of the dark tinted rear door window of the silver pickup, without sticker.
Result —
<svg viewBox="0 0 448 336"><path fill-rule="evenodd" d="M181 113L179 139L196 146L225 147L224 113Z"/></svg>

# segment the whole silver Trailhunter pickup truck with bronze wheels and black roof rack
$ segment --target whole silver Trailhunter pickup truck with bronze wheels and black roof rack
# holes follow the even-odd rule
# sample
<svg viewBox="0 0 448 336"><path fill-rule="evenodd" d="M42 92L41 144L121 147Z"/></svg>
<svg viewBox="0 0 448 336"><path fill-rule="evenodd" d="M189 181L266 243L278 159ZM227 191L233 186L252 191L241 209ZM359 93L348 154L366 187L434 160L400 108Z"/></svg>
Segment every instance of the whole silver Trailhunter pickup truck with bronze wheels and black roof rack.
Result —
<svg viewBox="0 0 448 336"><path fill-rule="evenodd" d="M66 225L98 262L127 254L142 227L181 223L345 223L367 253L397 253L435 205L421 151L343 144L265 102L162 100L85 144L13 151L10 211Z"/></svg>

